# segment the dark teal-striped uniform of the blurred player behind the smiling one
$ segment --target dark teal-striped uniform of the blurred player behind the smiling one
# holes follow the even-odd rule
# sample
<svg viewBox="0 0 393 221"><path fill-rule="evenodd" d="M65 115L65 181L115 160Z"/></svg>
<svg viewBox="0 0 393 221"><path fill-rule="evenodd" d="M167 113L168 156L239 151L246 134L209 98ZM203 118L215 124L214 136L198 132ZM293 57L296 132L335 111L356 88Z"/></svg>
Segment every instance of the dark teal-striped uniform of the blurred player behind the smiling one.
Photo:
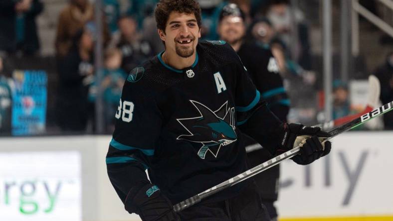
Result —
<svg viewBox="0 0 393 221"><path fill-rule="evenodd" d="M268 48L253 43L243 43L237 52L247 68L253 83L266 100L269 109L283 122L287 121L289 99L278 73L278 65ZM250 167L257 166L274 157L265 148L257 148L257 142L250 137L245 140ZM260 146L259 146L260 147ZM278 199L280 166L272 167L254 177L259 186L258 192L271 218L277 217L273 203Z"/></svg>

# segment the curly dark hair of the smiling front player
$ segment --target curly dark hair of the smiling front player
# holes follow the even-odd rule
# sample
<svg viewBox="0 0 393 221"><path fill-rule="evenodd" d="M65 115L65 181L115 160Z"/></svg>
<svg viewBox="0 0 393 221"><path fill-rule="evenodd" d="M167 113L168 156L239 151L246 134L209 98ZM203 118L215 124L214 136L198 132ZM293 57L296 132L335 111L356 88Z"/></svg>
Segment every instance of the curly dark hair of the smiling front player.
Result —
<svg viewBox="0 0 393 221"><path fill-rule="evenodd" d="M168 22L169 15L172 11L179 13L194 13L197 19L198 27L200 27L200 7L199 3L195 0L160 0L157 3L154 15L156 17L157 28L163 30L165 33L165 27Z"/></svg>

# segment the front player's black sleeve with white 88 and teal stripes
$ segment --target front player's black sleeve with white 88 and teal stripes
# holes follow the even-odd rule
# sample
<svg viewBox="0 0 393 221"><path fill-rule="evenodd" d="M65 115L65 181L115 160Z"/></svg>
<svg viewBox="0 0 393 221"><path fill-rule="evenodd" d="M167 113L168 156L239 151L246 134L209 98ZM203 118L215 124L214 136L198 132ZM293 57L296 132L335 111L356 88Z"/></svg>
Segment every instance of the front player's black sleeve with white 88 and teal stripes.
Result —
<svg viewBox="0 0 393 221"><path fill-rule="evenodd" d="M161 113L143 84L126 81L106 157L109 179L123 203L138 181L148 180L145 170L161 131Z"/></svg>

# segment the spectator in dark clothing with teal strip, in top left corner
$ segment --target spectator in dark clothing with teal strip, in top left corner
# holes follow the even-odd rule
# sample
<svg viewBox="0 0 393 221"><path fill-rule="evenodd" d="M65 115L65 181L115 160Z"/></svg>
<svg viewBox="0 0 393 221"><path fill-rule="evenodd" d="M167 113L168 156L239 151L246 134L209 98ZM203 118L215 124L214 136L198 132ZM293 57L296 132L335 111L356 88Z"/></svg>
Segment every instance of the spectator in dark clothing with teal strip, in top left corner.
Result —
<svg viewBox="0 0 393 221"><path fill-rule="evenodd" d="M0 0L0 51L33 55L39 50L35 23L40 0Z"/></svg>

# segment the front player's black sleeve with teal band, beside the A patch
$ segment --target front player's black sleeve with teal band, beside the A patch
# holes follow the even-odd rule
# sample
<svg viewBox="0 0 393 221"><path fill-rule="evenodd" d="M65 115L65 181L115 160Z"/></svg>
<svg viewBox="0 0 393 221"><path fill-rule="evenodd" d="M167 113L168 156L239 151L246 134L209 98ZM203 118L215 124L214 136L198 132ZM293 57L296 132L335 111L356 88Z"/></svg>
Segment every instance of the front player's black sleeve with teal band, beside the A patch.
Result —
<svg viewBox="0 0 393 221"><path fill-rule="evenodd" d="M236 70L236 124L242 132L275 154L283 135L282 122L267 107L240 58Z"/></svg>

